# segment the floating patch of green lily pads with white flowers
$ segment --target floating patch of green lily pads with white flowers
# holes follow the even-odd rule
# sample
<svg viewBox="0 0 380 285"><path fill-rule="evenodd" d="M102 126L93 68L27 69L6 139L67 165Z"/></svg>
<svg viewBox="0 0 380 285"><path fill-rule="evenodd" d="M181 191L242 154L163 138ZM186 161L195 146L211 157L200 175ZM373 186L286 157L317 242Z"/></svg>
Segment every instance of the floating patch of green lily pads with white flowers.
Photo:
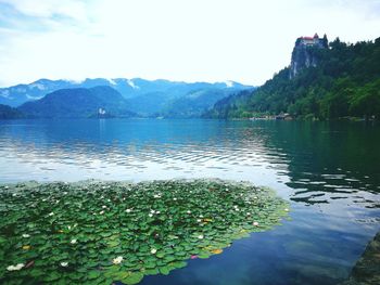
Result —
<svg viewBox="0 0 380 285"><path fill-rule="evenodd" d="M137 284L280 224L288 208L219 180L0 185L0 283Z"/></svg>

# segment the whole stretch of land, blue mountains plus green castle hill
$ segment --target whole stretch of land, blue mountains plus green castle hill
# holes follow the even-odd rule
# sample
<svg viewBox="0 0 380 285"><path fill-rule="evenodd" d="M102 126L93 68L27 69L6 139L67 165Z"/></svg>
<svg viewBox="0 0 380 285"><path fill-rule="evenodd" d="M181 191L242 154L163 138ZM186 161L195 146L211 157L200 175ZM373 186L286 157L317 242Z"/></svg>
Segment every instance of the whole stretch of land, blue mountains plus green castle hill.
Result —
<svg viewBox="0 0 380 285"><path fill-rule="evenodd" d="M297 38L290 66L254 88L237 82L40 79L0 89L0 118L380 118L380 38ZM279 114L282 114L278 116Z"/></svg>

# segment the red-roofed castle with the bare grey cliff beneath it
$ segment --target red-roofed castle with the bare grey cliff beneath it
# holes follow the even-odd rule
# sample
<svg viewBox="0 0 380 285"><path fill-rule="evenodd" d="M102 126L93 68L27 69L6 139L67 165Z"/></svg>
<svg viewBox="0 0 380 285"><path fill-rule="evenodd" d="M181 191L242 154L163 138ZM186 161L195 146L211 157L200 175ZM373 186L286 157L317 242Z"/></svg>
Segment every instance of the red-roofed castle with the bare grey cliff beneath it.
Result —
<svg viewBox="0 0 380 285"><path fill-rule="evenodd" d="M326 34L324 38L319 38L318 34L315 34L314 37L297 38L292 52L289 78L295 77L303 68L317 66L318 57L313 52L313 49L328 49L328 47L329 42Z"/></svg>

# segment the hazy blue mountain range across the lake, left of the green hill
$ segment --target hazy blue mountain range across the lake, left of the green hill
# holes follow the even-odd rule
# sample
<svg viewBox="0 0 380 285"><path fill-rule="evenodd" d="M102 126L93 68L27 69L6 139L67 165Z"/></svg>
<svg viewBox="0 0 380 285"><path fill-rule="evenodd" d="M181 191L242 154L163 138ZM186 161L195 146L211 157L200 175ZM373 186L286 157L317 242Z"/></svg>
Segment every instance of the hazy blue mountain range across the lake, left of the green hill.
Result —
<svg viewBox="0 0 380 285"><path fill-rule="evenodd" d="M39 79L29 85L1 88L0 104L16 108L22 114L17 113L17 117L31 118L93 117L99 112L116 117L185 118L199 117L218 100L252 88L233 81L188 83L163 79L96 78L75 82Z"/></svg>

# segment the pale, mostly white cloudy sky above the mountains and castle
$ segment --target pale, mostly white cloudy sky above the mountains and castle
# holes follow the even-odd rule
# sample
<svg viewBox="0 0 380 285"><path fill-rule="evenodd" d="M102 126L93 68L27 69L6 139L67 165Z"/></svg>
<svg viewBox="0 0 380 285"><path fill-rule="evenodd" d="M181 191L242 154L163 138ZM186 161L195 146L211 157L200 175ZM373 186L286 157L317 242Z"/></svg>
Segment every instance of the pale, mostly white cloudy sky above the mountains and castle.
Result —
<svg viewBox="0 0 380 285"><path fill-rule="evenodd" d="M300 36L380 37L380 0L0 0L0 87L40 78L259 86Z"/></svg>

